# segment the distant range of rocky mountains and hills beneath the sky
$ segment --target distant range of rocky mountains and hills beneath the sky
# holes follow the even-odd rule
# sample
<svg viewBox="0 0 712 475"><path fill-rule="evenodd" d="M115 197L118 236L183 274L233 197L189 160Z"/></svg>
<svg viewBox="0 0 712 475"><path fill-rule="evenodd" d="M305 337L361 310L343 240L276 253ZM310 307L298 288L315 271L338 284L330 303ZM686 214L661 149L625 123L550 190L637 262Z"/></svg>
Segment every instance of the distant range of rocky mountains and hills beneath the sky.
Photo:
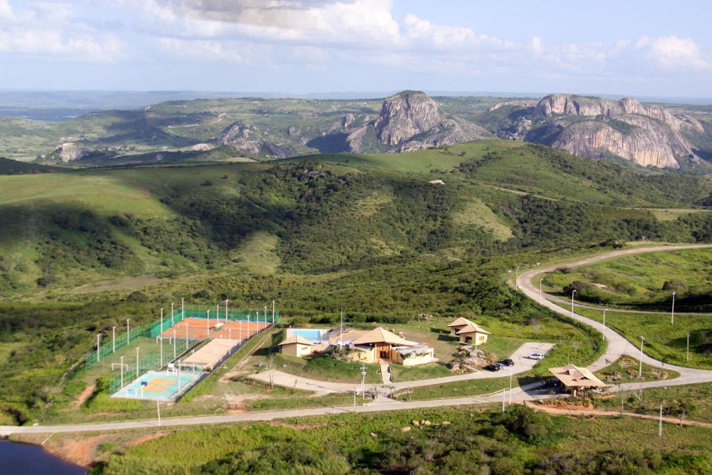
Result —
<svg viewBox="0 0 712 475"><path fill-rule="evenodd" d="M315 152L411 152L498 137L579 157L707 172L712 108L568 94L384 100L178 100L63 122L0 120L0 155L73 167L178 160L270 160ZM35 152L36 155L31 154Z"/></svg>

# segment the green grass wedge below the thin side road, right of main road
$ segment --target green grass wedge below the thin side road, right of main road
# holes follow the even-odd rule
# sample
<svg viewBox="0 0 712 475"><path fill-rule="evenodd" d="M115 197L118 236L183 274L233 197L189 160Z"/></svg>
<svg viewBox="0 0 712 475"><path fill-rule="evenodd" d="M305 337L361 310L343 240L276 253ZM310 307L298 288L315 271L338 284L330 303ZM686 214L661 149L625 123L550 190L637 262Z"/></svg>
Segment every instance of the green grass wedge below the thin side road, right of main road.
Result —
<svg viewBox="0 0 712 475"><path fill-rule="evenodd" d="M602 322L602 310L577 308L576 312ZM672 365L712 369L712 358L703 353L712 348L712 320L703 315L669 315L606 312L606 325L635 345L645 338L644 353ZM687 361L687 334L690 333L690 360Z"/></svg>

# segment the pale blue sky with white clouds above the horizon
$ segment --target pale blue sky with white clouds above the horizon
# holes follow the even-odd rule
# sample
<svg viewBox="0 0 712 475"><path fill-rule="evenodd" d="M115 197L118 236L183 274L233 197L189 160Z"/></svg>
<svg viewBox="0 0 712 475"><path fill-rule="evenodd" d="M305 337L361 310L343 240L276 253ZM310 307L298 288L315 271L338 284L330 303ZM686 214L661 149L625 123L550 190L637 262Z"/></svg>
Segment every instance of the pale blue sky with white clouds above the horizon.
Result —
<svg viewBox="0 0 712 475"><path fill-rule="evenodd" d="M0 88L711 97L706 0L0 0Z"/></svg>

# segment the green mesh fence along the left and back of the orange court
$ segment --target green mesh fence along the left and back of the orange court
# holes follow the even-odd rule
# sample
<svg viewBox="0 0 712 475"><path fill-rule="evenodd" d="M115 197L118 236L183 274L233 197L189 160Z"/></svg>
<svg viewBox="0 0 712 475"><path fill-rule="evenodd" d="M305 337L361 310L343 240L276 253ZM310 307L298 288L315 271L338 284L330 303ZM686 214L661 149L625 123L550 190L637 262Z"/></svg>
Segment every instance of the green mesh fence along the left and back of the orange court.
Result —
<svg viewBox="0 0 712 475"><path fill-rule="evenodd" d="M116 335L115 340L113 339L112 333L108 333L107 335L103 336L103 340L105 340L105 343L103 343L103 345L100 345L97 350L94 350L85 355L85 365L88 368L93 367L103 358L110 357L110 355L112 355L112 353L115 353L116 350L124 348L137 338L156 338L158 335L163 333L165 330L171 328L173 325L180 322L184 318L206 318L206 316L208 315L208 310L210 310L210 318L215 318L216 316L218 317L218 319L225 318L225 307L223 305L219 306L218 308L214 306L186 306L184 308L178 308L177 310L175 310L173 313L173 317L171 317L170 313L167 315L164 314L162 324L159 318L158 320L155 320L155 322L149 323L148 325L141 325L135 328L130 328L128 333L118 333ZM266 320L267 323L278 323L279 312L275 312L273 315L271 308L268 308L266 318L264 309L229 309L227 312L228 320L256 321L256 318L258 318L259 321ZM120 327L117 326L116 329L120 331Z"/></svg>

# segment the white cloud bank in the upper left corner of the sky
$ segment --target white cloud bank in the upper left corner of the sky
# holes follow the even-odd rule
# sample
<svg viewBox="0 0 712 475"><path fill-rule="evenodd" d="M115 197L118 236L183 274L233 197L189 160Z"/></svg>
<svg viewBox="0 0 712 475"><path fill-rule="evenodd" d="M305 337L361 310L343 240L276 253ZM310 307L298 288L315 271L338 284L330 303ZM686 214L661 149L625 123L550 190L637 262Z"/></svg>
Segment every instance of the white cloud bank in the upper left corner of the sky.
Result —
<svg viewBox="0 0 712 475"><path fill-rule="evenodd" d="M36 2L14 10L0 0L0 53L60 56L76 61L112 62L125 46L112 33L77 21L69 4Z"/></svg>

